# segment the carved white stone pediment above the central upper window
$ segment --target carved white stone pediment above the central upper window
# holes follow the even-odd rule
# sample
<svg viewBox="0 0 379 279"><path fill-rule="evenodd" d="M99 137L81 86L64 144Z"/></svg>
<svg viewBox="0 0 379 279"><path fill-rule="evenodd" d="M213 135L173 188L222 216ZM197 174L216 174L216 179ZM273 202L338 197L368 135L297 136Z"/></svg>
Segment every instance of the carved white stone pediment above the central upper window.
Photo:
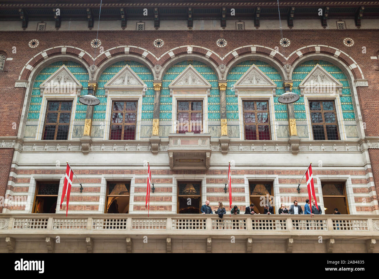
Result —
<svg viewBox="0 0 379 279"><path fill-rule="evenodd" d="M170 88L170 95L173 89L180 90L207 90L210 95L211 84L199 73L192 65L188 65L185 70L180 73L168 86Z"/></svg>

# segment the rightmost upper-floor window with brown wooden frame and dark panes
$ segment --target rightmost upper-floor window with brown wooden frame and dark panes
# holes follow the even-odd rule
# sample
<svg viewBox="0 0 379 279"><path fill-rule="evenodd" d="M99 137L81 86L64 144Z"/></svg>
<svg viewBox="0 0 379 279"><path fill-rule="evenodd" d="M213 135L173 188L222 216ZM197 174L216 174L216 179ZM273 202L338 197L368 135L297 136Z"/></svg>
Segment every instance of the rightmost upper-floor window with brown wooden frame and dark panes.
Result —
<svg viewBox="0 0 379 279"><path fill-rule="evenodd" d="M313 139L339 139L334 101L309 101Z"/></svg>

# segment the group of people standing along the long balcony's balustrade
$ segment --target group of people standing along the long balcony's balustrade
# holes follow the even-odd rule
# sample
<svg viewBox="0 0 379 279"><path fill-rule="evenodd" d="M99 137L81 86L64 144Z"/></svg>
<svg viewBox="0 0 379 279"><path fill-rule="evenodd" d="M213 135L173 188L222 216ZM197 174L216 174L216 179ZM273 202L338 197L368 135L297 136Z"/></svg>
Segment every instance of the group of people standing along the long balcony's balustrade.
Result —
<svg viewBox="0 0 379 279"><path fill-rule="evenodd" d="M213 214L212 208L209 206L209 201L205 201L205 204L201 207L200 211L202 214ZM321 214L321 208L318 205L316 207L316 202L312 202L312 207L310 206L309 199L305 200L305 205L304 205L304 213L300 205L298 205L298 201L294 201L293 205L290 206L290 208L285 207L285 204L281 204L279 208L279 214L310 214L310 215L318 215ZM218 214L220 218L224 214L226 214L226 208L222 204L222 202L218 203L218 208L215 210L215 214ZM230 214L240 214L240 209L238 206L234 206L232 210L230 210ZM250 206L245 208L245 213L244 214L260 214L254 211L254 204L250 204ZM274 207L270 206L269 204L265 205L265 209L263 210L263 214L274 214ZM334 214L341 214L338 212L337 208L334 208Z"/></svg>

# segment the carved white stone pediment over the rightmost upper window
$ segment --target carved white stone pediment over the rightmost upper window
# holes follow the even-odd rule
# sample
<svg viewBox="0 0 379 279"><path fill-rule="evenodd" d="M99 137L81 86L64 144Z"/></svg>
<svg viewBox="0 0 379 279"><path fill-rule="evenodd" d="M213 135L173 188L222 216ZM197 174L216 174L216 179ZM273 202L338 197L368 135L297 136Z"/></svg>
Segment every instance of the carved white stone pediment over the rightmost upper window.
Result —
<svg viewBox="0 0 379 279"><path fill-rule="evenodd" d="M342 95L342 83L327 72L319 64L309 72L299 84L301 95L304 93L340 94Z"/></svg>

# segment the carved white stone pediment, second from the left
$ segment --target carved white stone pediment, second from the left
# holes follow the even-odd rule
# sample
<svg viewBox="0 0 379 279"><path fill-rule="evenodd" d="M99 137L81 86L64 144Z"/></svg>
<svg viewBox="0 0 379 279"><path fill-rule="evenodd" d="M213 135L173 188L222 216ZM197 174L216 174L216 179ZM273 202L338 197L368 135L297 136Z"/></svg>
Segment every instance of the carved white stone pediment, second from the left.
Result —
<svg viewBox="0 0 379 279"><path fill-rule="evenodd" d="M108 90L141 90L141 92L145 92L147 85L129 65L125 65L116 75L105 83L104 88L105 94L107 95Z"/></svg>

